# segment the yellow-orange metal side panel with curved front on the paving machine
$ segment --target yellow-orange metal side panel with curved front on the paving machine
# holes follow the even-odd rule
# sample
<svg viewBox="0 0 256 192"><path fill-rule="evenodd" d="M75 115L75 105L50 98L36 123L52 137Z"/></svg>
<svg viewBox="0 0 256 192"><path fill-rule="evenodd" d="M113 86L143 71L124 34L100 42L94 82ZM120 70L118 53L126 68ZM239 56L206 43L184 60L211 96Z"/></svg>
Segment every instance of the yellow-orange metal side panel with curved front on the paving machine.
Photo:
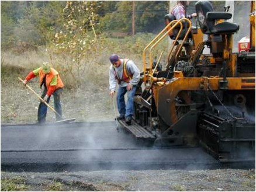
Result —
<svg viewBox="0 0 256 192"><path fill-rule="evenodd" d="M177 121L176 109L174 106L175 97L177 95L184 96L186 103L189 103L189 98L186 98L184 93L189 90L219 90L219 81L223 78L177 78L172 82L166 83L165 86L157 86L157 92L154 94L157 100L157 110L165 123L171 125ZM255 77L253 78L227 78L227 87L229 90L255 90ZM182 94L183 92L183 94ZM188 95L187 95L188 96Z"/></svg>

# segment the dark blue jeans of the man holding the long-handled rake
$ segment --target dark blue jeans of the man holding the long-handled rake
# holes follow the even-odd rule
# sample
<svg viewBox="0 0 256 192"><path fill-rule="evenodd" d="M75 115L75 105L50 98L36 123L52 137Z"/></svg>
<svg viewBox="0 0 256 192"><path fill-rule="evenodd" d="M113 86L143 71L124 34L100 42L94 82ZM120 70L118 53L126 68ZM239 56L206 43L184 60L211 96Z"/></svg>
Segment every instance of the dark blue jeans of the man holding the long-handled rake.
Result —
<svg viewBox="0 0 256 192"><path fill-rule="evenodd" d="M63 89L59 88L53 92L53 102L54 102L54 109L57 111L58 114L62 116L62 109L60 104L60 95L61 92L63 92ZM43 88L43 93L41 95L41 98L44 98L47 93L47 88ZM47 103L50 102L50 97L48 97ZM40 102L38 111L37 111L37 120L39 123L44 123L46 121L46 114L47 114L47 106L43 102ZM62 118L56 114L56 121L60 121Z"/></svg>

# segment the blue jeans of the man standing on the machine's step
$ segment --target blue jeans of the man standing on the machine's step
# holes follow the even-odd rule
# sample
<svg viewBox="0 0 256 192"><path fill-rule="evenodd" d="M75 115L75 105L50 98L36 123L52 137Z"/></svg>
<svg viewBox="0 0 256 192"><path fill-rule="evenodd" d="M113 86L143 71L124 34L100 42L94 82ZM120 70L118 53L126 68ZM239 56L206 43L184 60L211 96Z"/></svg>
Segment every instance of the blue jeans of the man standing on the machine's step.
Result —
<svg viewBox="0 0 256 192"><path fill-rule="evenodd" d="M127 94L127 103L124 102L124 95L126 94L126 87L119 87L117 90L117 108L120 116L133 116L133 97L136 92L136 86L133 86L132 90L130 90Z"/></svg>

